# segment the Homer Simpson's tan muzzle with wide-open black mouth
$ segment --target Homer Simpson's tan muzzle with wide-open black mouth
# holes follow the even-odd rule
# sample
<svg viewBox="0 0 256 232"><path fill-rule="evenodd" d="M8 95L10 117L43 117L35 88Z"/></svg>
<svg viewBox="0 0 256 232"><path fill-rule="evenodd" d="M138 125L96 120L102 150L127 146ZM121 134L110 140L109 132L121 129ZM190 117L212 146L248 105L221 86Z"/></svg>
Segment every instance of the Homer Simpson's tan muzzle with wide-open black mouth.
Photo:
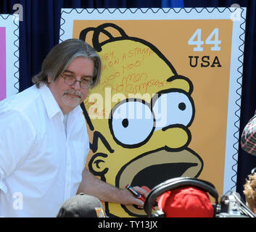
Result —
<svg viewBox="0 0 256 232"><path fill-rule="evenodd" d="M170 178L181 176L197 178L202 172L202 158L191 149L178 152L165 148L141 154L124 165L117 173L115 185L125 188L131 186L147 186L152 189L157 184ZM132 205L122 205L128 215L145 217L144 210Z"/></svg>

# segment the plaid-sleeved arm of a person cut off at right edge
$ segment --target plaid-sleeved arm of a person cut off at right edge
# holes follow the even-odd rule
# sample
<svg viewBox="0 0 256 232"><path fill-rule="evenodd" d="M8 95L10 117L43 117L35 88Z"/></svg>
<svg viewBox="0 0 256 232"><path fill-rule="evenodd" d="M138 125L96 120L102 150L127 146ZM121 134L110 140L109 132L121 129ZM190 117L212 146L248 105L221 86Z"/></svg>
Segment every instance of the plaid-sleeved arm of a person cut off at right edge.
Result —
<svg viewBox="0 0 256 232"><path fill-rule="evenodd" d="M256 115L244 127L241 134L241 148L249 154L256 155Z"/></svg>

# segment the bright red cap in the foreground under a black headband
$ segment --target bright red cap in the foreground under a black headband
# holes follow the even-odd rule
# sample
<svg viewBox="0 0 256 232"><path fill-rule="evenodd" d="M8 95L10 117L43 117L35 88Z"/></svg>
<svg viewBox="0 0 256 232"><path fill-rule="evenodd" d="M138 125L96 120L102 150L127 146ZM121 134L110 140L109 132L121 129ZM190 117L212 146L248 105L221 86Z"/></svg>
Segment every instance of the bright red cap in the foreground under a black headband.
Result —
<svg viewBox="0 0 256 232"><path fill-rule="evenodd" d="M166 218L213 218L209 196L199 188L176 188L160 195L158 208Z"/></svg>

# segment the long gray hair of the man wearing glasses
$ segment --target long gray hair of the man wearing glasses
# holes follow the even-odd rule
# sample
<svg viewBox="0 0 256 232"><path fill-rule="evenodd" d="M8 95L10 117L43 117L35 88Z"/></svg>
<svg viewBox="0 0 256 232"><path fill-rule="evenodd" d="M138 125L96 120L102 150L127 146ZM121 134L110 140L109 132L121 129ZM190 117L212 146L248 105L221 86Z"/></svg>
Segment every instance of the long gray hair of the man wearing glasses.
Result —
<svg viewBox="0 0 256 232"><path fill-rule="evenodd" d="M99 84L102 73L102 60L99 54L86 42L76 38L70 38L54 46L47 54L41 67L41 72L34 76L32 81L38 88L48 83L48 77L52 81L59 78L68 65L76 57L85 57L94 61L93 84L91 88Z"/></svg>

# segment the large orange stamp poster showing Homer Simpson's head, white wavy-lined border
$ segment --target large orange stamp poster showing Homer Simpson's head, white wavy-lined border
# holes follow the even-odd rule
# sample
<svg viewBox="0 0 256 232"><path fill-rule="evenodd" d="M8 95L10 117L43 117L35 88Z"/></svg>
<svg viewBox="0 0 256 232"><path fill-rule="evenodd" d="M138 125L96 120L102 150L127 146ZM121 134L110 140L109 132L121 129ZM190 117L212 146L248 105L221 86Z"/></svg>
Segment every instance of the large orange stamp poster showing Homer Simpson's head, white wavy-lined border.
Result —
<svg viewBox="0 0 256 232"><path fill-rule="evenodd" d="M210 181L220 195L236 188L245 12L62 10L60 41L90 43L104 64L82 104L92 173L119 188L179 176ZM145 215L105 207L110 216Z"/></svg>

